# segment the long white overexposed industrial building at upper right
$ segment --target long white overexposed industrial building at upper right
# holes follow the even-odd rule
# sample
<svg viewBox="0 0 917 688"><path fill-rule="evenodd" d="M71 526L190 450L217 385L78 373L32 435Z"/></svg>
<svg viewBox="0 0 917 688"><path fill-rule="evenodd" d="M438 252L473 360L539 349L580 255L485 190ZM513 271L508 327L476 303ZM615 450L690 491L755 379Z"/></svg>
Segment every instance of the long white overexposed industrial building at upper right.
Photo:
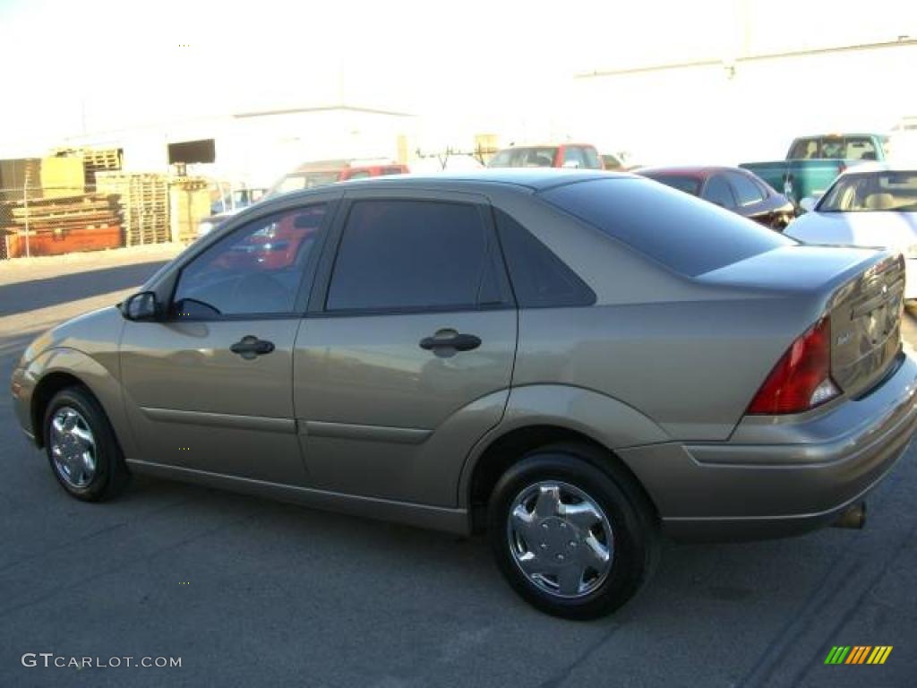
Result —
<svg viewBox="0 0 917 688"><path fill-rule="evenodd" d="M797 136L885 133L917 115L917 40L595 70L573 79L566 136L635 162L782 157Z"/></svg>

